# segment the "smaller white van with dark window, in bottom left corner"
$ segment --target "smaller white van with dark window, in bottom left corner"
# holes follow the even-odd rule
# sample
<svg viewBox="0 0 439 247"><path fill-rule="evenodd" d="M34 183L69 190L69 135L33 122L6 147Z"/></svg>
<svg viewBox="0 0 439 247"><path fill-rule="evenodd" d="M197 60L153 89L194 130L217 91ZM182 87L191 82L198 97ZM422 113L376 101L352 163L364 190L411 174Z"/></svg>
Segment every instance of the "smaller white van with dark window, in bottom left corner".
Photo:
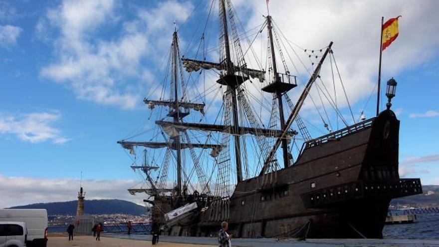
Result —
<svg viewBox="0 0 439 247"><path fill-rule="evenodd" d="M26 245L26 223L0 222L0 247L23 247Z"/></svg>

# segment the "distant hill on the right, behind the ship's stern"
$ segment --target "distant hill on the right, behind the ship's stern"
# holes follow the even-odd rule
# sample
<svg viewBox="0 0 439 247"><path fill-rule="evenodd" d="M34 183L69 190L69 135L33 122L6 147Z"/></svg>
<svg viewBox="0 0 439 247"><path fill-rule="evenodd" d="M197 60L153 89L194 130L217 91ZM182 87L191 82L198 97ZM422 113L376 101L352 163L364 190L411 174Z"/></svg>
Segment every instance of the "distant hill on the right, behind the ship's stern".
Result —
<svg viewBox="0 0 439 247"><path fill-rule="evenodd" d="M423 194L410 197L402 197L392 200L392 205L410 205L412 207L439 207L439 186L424 185Z"/></svg>

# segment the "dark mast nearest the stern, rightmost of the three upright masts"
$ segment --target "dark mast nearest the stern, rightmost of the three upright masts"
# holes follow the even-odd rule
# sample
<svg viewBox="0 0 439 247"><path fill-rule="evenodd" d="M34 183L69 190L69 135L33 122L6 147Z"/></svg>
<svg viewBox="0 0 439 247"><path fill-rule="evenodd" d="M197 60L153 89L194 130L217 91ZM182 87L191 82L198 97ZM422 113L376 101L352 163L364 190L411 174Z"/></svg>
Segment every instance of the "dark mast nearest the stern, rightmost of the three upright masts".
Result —
<svg viewBox="0 0 439 247"><path fill-rule="evenodd" d="M271 63L273 66L273 82L279 82L279 75L277 74L277 66L276 66L276 56L274 54L274 44L273 44L273 33L271 30L271 16L267 15L267 28L268 28L268 37L270 39L270 48L271 48ZM276 98L279 107L279 118L280 118L280 129L283 130L285 128L285 118L283 115L283 105L282 105L282 92L280 90L276 90ZM283 153L283 167L287 168L289 166L288 162L288 145L286 138L282 139L282 153Z"/></svg>

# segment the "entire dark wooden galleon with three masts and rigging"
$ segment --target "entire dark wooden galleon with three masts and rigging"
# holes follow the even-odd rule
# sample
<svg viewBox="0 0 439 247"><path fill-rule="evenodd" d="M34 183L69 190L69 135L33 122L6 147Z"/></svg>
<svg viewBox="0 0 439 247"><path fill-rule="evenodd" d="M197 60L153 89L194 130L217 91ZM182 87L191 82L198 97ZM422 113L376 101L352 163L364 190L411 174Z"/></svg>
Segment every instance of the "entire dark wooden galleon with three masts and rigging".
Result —
<svg viewBox="0 0 439 247"><path fill-rule="evenodd" d="M189 27L184 54L177 26L172 34L162 80L144 99L153 122L118 142L143 176L129 192L146 193L153 231L217 236L226 221L234 238L382 238L391 199L422 193L420 179L398 173L397 82L387 84L387 109L369 119L350 111L351 122L332 42L294 48L269 14L240 30L230 0L206 9L193 11L209 14ZM306 119L312 107L320 136Z"/></svg>

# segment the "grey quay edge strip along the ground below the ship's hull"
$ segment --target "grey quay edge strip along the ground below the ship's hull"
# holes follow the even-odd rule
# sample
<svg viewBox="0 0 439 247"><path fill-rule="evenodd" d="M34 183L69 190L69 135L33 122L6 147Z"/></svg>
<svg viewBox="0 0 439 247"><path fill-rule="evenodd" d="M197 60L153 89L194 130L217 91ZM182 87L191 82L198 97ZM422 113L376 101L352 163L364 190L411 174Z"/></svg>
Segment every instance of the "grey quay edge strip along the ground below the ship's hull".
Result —
<svg viewBox="0 0 439 247"><path fill-rule="evenodd" d="M151 235L126 234L105 234L106 237L113 237L126 240L151 241ZM217 238L200 237L171 237L160 236L163 246L172 246L170 243L191 244L196 246L218 246ZM307 239L298 240L276 240L276 239L232 239L234 247L439 247L439 240L414 240L414 239Z"/></svg>

